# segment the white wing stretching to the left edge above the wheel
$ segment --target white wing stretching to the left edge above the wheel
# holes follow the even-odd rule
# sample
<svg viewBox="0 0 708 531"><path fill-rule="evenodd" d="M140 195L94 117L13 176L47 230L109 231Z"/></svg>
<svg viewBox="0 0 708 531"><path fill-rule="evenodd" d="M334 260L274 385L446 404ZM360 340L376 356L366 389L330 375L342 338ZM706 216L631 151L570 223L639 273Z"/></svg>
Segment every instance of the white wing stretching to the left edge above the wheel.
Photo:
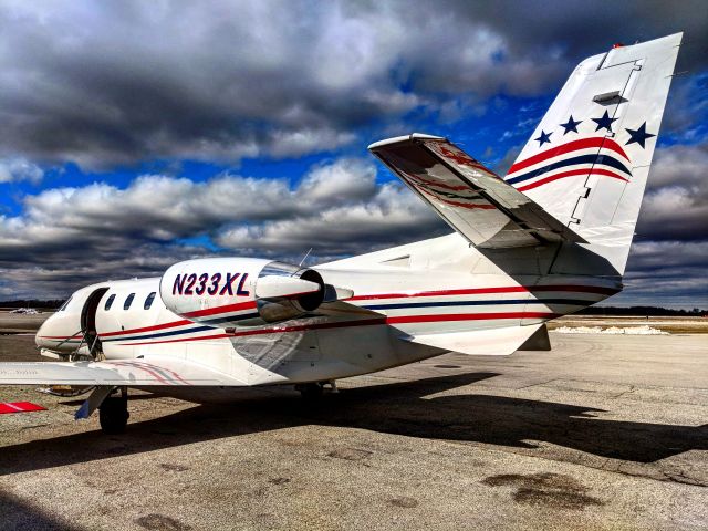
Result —
<svg viewBox="0 0 708 531"><path fill-rule="evenodd" d="M164 356L110 362L0 363L0 385L247 385L194 362Z"/></svg>

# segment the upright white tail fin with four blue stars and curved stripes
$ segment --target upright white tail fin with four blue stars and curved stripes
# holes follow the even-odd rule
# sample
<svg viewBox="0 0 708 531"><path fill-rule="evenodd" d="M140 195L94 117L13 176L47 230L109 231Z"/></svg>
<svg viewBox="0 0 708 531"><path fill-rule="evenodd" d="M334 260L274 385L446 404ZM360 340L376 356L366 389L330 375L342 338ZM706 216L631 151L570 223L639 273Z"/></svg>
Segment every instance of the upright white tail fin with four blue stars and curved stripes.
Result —
<svg viewBox="0 0 708 531"><path fill-rule="evenodd" d="M504 177L620 274L681 37L616 45L583 61Z"/></svg>

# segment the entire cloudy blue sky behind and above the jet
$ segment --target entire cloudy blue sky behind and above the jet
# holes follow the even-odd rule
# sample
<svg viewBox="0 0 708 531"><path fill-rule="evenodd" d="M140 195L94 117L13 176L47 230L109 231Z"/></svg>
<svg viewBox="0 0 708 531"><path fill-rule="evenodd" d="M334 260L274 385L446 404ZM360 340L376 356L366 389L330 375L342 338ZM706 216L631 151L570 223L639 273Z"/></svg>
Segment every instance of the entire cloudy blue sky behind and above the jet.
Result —
<svg viewBox="0 0 708 531"><path fill-rule="evenodd" d="M708 308L704 1L0 0L0 300L448 232L366 145L504 171L577 62L685 31L615 304Z"/></svg>

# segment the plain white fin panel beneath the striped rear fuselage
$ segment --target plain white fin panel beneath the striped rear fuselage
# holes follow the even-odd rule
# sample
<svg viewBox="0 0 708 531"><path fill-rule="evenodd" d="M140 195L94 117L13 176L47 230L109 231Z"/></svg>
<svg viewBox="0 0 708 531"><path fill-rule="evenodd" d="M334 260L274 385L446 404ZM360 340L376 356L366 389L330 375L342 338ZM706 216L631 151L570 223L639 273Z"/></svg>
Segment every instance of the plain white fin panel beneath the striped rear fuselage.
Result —
<svg viewBox="0 0 708 531"><path fill-rule="evenodd" d="M508 356L517 352L544 324L508 326L504 329L427 334L405 337L404 341L435 346L444 351L480 356Z"/></svg>

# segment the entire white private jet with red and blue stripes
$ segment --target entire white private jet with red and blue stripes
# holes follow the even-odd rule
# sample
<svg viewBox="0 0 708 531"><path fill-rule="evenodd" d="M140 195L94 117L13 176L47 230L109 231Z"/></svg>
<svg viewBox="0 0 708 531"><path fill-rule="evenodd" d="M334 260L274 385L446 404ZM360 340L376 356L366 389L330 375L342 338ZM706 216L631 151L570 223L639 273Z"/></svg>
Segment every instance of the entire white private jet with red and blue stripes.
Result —
<svg viewBox="0 0 708 531"><path fill-rule="evenodd" d="M549 320L622 290L681 34L583 61L501 177L438 136L372 144L455 232L301 268L208 258L76 291L37 333L46 363L0 385L88 393L105 431L127 388L174 396L335 379L446 352L549 348Z"/></svg>

